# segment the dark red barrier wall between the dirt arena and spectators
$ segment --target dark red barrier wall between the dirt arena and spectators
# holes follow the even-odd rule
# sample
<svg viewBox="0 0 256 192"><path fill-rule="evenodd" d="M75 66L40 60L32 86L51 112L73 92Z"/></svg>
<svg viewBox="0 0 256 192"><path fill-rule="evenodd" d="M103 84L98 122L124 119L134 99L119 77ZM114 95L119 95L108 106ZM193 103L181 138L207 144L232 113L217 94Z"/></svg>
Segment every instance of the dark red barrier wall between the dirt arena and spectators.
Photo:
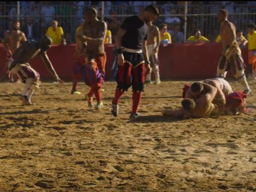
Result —
<svg viewBox="0 0 256 192"><path fill-rule="evenodd" d="M75 45L53 45L47 51L48 57L53 63L57 74L65 81L71 81L72 58ZM111 65L113 60L114 45L106 45L106 80L111 78ZM242 49L245 63L248 63L247 49ZM170 44L160 47L160 76L161 79L189 79L189 78L211 78L215 77L218 59L221 55L221 44ZM5 50L0 44L0 81L6 71ZM53 80L50 72L44 66L41 58L35 57L31 65L41 75L42 80Z"/></svg>

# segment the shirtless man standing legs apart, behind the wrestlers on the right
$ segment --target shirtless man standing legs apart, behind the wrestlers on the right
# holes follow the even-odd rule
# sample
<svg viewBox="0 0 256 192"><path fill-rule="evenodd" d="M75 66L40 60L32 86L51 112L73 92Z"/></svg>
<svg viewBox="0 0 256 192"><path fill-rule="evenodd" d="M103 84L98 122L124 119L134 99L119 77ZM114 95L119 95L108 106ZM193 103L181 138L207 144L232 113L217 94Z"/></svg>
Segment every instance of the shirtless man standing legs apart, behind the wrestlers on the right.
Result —
<svg viewBox="0 0 256 192"><path fill-rule="evenodd" d="M218 22L220 22L220 36L223 40L223 51L220 57L217 77L225 78L228 69L243 86L245 86L245 93L251 93L248 82L245 77L245 63L241 55L241 50L236 41L236 27L233 23L227 20L227 10L219 10L217 14Z"/></svg>

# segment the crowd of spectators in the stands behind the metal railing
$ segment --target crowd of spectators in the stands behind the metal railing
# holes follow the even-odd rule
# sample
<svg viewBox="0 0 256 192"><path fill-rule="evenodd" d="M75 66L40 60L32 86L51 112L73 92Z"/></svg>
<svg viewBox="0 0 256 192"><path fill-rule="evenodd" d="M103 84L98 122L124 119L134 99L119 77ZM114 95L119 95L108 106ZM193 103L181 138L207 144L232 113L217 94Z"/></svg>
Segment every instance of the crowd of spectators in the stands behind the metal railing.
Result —
<svg viewBox="0 0 256 192"><path fill-rule="evenodd" d="M105 1L104 20L111 32L111 41L114 42L115 33L123 20L149 4L159 7L163 16L153 23L154 25L166 25L167 32L172 42L184 42L184 1ZM20 1L20 24L28 39L38 39L42 34L52 29L53 23L57 23L57 32L62 28L63 34L58 40L63 43L74 42L74 34L77 27L83 22L84 10L87 7L96 7L99 19L102 17L102 1ZM254 17L245 14L235 17L232 13L254 13L255 1L188 1L188 14L216 14L220 8L225 8L231 13L229 19L237 28L246 29L249 23L254 23ZM4 32L10 30L10 23L17 19L17 2L0 2L0 41ZM247 21L248 23L246 23ZM187 36L193 36L196 29L200 29L209 41L215 41L218 36L218 22L214 16L191 16L187 20ZM246 31L242 31L246 32ZM108 42L111 42L108 40Z"/></svg>

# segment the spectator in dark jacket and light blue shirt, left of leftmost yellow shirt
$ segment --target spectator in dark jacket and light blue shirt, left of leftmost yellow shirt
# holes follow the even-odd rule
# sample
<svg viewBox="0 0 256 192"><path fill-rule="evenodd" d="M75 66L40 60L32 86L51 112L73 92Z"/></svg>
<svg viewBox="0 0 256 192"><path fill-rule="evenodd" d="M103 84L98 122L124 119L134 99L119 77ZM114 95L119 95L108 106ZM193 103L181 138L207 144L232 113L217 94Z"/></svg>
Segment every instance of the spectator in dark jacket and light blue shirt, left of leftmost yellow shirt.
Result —
<svg viewBox="0 0 256 192"><path fill-rule="evenodd" d="M34 23L33 18L31 16L26 16L26 24L23 25L22 31L25 33L27 39L37 40L39 38L37 30L37 23Z"/></svg>

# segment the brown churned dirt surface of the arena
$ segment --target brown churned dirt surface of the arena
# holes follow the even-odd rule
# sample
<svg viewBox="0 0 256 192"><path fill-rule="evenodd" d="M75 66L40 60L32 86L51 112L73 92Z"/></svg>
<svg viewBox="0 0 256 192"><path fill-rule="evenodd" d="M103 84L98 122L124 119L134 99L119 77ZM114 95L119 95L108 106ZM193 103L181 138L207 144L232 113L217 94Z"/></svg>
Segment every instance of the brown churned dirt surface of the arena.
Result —
<svg viewBox="0 0 256 192"><path fill-rule="evenodd" d="M0 83L0 191L256 191L256 82L251 114L162 117L180 106L184 83L146 85L133 121L130 89L112 117L115 82L104 84L100 112L83 83L82 95L42 83L33 106L20 105L23 84Z"/></svg>

